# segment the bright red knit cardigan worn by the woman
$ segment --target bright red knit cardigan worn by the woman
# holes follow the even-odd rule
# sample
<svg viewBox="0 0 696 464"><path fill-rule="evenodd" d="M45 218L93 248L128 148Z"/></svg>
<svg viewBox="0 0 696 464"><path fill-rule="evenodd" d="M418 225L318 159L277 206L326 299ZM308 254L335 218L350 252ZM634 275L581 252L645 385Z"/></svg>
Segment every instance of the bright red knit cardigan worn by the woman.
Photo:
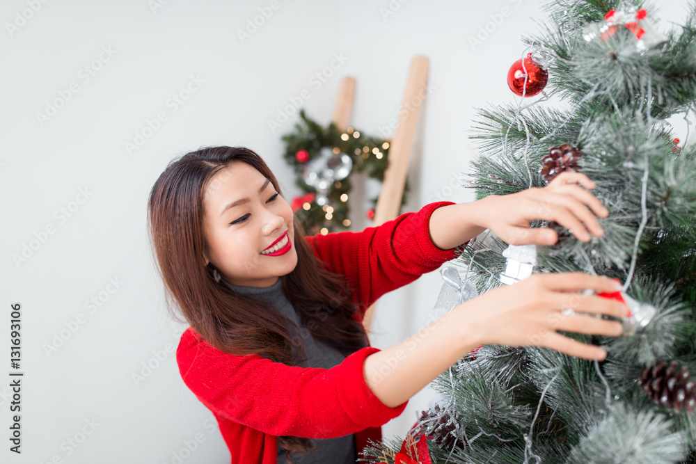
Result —
<svg viewBox="0 0 696 464"><path fill-rule="evenodd" d="M345 275L358 304L354 319L381 295L413 282L456 257L432 243L429 218L435 202L363 232L306 237L326 269ZM358 453L367 438L381 440L381 424L408 401L389 408L363 376L367 346L331 369L290 367L259 355L230 355L207 344L192 328L181 337L177 363L187 387L212 411L232 464L276 464L278 435L335 438L355 433Z"/></svg>

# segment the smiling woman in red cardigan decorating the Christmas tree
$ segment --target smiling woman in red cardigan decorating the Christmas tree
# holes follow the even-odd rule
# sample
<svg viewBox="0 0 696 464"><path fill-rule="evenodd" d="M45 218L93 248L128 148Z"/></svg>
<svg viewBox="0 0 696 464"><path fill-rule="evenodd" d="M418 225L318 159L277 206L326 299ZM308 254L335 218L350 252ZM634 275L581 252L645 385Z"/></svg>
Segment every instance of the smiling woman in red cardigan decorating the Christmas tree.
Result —
<svg viewBox="0 0 696 464"><path fill-rule="evenodd" d="M564 173L544 189L436 202L363 232L305 237L264 161L209 147L169 164L152 188L149 227L168 299L190 324L177 362L217 419L232 463L354 463L381 424L482 344L546 346L587 359L606 352L556 330L616 336L616 301L580 293L615 282L583 273L532 275L462 303L390 349L369 346L367 307L454 259L489 228L508 243L555 243L532 219L582 241L608 211L590 179ZM594 214L593 214L594 213ZM578 314L563 312L572 308Z"/></svg>

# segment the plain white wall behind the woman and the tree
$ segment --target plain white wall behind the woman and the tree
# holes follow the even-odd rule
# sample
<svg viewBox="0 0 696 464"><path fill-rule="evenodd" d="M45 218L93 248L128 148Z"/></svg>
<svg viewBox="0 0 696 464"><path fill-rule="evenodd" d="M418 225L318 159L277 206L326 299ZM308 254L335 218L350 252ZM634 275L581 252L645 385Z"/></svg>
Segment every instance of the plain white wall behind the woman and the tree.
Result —
<svg viewBox="0 0 696 464"><path fill-rule="evenodd" d="M12 303L22 305L25 373L22 454L10 453L4 440L0 455L10 455L7 462L173 463L199 432L204 441L184 462L228 462L219 431L206 422L209 411L177 371L173 350L184 327L166 312L148 248L148 193L176 155L203 145L246 145L262 154L292 198L299 192L280 136L298 118L276 133L267 121L307 88L308 114L328 122L340 79L351 76L357 79L351 123L379 135L397 116L411 58L422 54L430 60L432 94L414 144L408 209L437 200L436 192L454 202L473 198L455 181L473 156L467 136L474 109L516 101L505 76L523 54L519 36L537 30L530 16L543 19L540 2L278 2L244 42L237 31L269 1L170 0L155 10L147 0L1 3L3 435L10 425ZM679 21L681 11L671 5L663 13ZM489 37L472 45L486 27ZM310 85L335 54L345 63L319 88ZM100 57L94 75L82 70ZM168 99L191 76L202 83L174 111ZM64 106L40 121L47 102L68 90ZM160 111L167 120L129 154L125 143ZM457 187L450 190L450 182ZM354 218L369 225L362 213ZM35 249L15 263L24 246ZM434 272L383 297L372 344L392 346L425 326L440 287ZM90 298L102 301L91 305ZM66 332L71 326L74 333ZM56 339L61 331L65 339ZM62 345L47 351L54 341ZM136 385L133 374L148 362L160 366ZM429 389L417 394L384 434L403 436L432 396ZM83 431L90 435L77 447L67 441L81 441Z"/></svg>

